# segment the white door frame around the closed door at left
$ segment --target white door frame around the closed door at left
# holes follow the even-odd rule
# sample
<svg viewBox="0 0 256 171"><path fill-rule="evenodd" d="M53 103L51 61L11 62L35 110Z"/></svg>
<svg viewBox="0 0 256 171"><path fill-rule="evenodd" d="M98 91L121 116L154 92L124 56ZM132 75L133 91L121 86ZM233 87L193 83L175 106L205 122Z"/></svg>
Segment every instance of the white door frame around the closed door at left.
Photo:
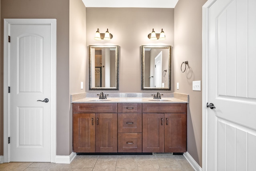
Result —
<svg viewBox="0 0 256 171"><path fill-rule="evenodd" d="M10 162L10 147L8 137L10 135L10 96L8 86L10 86L10 48L8 46L8 36L10 25L16 24L44 24L51 26L52 41L52 85L51 85L51 162L56 159L56 19L4 19L4 163Z"/></svg>

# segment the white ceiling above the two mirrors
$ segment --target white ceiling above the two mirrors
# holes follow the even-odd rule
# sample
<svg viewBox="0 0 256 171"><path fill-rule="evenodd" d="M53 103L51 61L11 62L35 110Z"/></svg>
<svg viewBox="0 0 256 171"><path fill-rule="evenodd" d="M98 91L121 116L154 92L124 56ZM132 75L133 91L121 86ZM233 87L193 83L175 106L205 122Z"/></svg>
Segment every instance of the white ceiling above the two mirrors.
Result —
<svg viewBox="0 0 256 171"><path fill-rule="evenodd" d="M178 0L82 0L86 7L174 8Z"/></svg>

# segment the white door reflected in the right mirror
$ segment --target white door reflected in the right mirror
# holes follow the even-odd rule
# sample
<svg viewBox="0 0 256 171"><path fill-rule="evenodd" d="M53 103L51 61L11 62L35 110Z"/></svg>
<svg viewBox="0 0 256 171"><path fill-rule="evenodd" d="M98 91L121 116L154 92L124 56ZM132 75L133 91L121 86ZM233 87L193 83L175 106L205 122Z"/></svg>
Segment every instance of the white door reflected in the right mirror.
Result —
<svg viewBox="0 0 256 171"><path fill-rule="evenodd" d="M155 87L162 87L162 51L155 58Z"/></svg>

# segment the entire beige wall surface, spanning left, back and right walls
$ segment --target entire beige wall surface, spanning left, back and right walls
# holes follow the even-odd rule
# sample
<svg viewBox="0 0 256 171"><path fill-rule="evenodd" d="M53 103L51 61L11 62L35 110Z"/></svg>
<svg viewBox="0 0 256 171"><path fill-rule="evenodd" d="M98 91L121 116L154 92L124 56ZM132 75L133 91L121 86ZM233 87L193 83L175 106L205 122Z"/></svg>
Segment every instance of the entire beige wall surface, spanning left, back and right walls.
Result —
<svg viewBox="0 0 256 171"><path fill-rule="evenodd" d="M140 46L171 45L175 50L172 55L172 91L190 95L188 152L202 166L202 92L192 91L192 81L202 80L202 5L205 2L206 0L193 2L179 0L175 10L172 8L86 8L85 13L85 8L79 0L70 2L69 0L1 0L1 38L3 37L3 18L57 19L57 155L69 155L72 151L70 94L88 92L86 69L88 68L88 45L120 46L119 91L110 92L146 92L140 89ZM86 24L83 22L85 17ZM94 40L97 28L101 33L108 28L113 34L113 39ZM163 28L166 40L150 41L147 35L152 28L156 32L160 32ZM84 38L86 46L84 46ZM3 155L2 47L1 39L0 155ZM180 65L186 60L189 68L182 73ZM80 82L84 82L85 89L80 89ZM179 90L176 90L177 82L180 84Z"/></svg>

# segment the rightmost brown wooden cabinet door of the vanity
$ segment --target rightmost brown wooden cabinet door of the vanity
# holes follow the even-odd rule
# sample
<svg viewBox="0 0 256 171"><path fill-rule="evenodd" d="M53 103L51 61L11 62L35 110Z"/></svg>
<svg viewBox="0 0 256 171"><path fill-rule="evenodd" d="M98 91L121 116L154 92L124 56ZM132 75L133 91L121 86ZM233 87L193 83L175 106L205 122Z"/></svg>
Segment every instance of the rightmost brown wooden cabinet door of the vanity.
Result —
<svg viewBox="0 0 256 171"><path fill-rule="evenodd" d="M164 152L186 152L186 113L164 113Z"/></svg>

